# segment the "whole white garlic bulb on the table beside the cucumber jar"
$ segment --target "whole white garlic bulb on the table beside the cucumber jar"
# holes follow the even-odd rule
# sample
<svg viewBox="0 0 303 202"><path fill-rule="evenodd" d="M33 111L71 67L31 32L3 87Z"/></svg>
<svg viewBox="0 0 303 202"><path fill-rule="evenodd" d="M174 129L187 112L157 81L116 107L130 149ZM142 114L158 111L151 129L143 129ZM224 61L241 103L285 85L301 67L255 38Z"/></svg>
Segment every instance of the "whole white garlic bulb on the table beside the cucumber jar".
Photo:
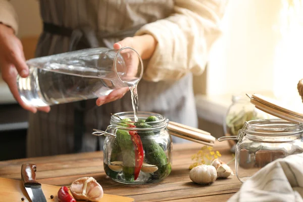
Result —
<svg viewBox="0 0 303 202"><path fill-rule="evenodd" d="M200 165L190 170L189 178L198 184L210 184L217 179L217 171L214 166Z"/></svg>

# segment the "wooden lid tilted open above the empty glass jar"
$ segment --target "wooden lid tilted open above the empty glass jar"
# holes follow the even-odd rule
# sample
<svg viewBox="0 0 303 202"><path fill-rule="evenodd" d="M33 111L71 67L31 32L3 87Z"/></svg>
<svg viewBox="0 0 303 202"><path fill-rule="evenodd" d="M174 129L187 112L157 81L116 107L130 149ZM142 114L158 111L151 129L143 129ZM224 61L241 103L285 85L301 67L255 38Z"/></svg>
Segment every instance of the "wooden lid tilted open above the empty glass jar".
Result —
<svg viewBox="0 0 303 202"><path fill-rule="evenodd" d="M251 96L247 96L250 98L250 103L254 104L257 109L263 112L289 122L303 123L302 113L291 110L290 107L279 103L275 99L256 93L252 94Z"/></svg>

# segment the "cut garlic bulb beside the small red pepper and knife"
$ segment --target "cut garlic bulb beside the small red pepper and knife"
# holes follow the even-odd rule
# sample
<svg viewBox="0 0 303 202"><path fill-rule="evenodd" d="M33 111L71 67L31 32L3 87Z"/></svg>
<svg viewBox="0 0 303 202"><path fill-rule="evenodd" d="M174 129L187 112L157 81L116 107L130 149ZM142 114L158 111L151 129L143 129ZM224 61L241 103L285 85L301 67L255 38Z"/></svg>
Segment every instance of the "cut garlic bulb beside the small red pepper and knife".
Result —
<svg viewBox="0 0 303 202"><path fill-rule="evenodd" d="M92 177L73 181L70 190L76 200L99 201L103 197L102 186Z"/></svg>

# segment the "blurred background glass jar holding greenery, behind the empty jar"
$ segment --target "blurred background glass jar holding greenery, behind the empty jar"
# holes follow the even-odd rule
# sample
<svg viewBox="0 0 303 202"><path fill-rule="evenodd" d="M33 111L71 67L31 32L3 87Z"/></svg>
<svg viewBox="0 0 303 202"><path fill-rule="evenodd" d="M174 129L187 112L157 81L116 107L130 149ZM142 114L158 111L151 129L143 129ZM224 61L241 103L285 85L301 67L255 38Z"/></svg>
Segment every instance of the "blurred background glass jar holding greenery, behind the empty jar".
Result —
<svg viewBox="0 0 303 202"><path fill-rule="evenodd" d="M225 136L237 136L239 130L246 121L256 119L267 119L269 116L251 105L249 99L243 95L233 95L232 104L227 110L223 121L223 130ZM237 143L236 140L228 140L232 151Z"/></svg>

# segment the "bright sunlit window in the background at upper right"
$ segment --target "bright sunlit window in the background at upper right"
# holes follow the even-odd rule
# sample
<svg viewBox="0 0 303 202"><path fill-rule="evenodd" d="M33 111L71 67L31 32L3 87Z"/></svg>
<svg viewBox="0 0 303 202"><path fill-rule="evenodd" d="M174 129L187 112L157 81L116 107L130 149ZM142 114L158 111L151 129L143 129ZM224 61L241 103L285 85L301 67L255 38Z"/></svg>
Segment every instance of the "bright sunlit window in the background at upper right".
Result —
<svg viewBox="0 0 303 202"><path fill-rule="evenodd" d="M229 0L210 53L207 94L272 92L303 107L303 1ZM294 101L295 100L295 101Z"/></svg>

